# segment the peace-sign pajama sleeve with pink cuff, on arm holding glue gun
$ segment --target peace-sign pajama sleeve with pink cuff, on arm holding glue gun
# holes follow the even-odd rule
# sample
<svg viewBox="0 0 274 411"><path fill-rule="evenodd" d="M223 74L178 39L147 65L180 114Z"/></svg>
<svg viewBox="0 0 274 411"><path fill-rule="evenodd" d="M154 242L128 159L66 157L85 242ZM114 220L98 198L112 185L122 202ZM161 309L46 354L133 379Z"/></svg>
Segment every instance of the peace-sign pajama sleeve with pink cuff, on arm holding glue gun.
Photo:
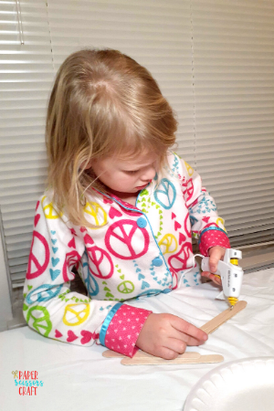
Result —
<svg viewBox="0 0 274 411"><path fill-rule="evenodd" d="M192 233L198 239L201 253L208 255L214 246L230 248L225 221L217 214L214 198L202 185L200 175L183 160L182 189L188 208Z"/></svg>

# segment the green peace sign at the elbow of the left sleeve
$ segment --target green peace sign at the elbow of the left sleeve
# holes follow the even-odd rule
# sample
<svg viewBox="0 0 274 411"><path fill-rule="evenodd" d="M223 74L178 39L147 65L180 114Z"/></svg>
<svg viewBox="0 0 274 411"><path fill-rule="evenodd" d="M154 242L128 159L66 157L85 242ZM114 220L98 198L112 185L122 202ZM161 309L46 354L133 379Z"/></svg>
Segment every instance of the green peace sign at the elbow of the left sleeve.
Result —
<svg viewBox="0 0 274 411"><path fill-rule="evenodd" d="M51 332L52 323L46 307L37 305L29 309L26 314L26 322L44 337L47 337Z"/></svg>

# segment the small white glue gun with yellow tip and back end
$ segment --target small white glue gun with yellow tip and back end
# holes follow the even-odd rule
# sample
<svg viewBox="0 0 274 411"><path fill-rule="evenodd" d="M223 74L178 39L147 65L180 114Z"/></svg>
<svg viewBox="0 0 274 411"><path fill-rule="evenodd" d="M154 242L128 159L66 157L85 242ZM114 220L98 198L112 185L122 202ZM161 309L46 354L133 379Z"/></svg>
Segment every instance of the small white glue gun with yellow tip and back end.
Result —
<svg viewBox="0 0 274 411"><path fill-rule="evenodd" d="M215 274L222 281L224 296L230 307L234 307L240 294L244 271L237 265L237 260L242 258L242 252L237 249L227 248L224 261L219 261ZM202 271L210 271L209 257L202 259ZM211 272L211 271L210 271Z"/></svg>

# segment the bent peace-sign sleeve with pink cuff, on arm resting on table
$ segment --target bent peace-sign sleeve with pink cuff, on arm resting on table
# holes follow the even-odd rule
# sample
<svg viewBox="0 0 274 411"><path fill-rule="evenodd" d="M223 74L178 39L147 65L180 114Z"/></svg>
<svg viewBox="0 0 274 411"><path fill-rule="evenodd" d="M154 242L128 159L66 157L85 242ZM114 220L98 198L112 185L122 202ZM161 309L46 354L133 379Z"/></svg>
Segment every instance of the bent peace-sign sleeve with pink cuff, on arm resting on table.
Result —
<svg viewBox="0 0 274 411"><path fill-rule="evenodd" d="M82 346L101 342L109 348L112 346L114 351L132 356L139 332L151 311L130 307L134 321L138 323L136 327L134 321L128 321L131 317L123 315L125 310L129 311L126 304L90 300L78 292L71 292L70 281L75 278L72 269L80 269L84 253L80 227L68 224L68 218L58 213L50 199L41 197L37 202L24 286L26 322L48 338ZM121 323L124 330L118 333L117 324ZM121 344L116 343L114 347L111 339L115 334L118 339L121 337ZM112 337L110 340L109 336Z"/></svg>

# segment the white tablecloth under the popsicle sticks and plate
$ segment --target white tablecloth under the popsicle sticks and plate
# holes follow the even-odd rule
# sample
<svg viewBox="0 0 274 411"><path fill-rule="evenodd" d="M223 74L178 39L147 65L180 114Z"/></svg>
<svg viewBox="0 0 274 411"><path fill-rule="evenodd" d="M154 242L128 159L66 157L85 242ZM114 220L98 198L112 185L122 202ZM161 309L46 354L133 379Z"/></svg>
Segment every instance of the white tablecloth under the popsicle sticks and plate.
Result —
<svg viewBox="0 0 274 411"><path fill-rule="evenodd" d="M170 312L203 325L227 309L212 283L137 300L132 305ZM274 356L274 269L244 276L240 300L248 306L187 351L219 353L225 362ZM219 364L124 366L90 348L49 340L28 327L0 333L0 404L3 411L179 411L191 388ZM224 363L223 363L224 364ZM37 371L37 395L19 395L13 371Z"/></svg>

